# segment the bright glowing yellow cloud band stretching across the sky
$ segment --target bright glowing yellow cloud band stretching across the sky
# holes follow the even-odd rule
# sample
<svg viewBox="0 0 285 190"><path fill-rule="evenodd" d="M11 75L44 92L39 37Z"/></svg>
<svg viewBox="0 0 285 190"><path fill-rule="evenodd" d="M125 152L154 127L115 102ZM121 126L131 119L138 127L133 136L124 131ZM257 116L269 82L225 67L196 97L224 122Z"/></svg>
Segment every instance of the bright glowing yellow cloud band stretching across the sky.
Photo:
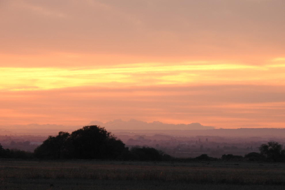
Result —
<svg viewBox="0 0 285 190"><path fill-rule="evenodd" d="M246 72L244 72L246 71ZM141 63L97 67L0 67L0 89L40 90L80 86L284 84L283 65Z"/></svg>

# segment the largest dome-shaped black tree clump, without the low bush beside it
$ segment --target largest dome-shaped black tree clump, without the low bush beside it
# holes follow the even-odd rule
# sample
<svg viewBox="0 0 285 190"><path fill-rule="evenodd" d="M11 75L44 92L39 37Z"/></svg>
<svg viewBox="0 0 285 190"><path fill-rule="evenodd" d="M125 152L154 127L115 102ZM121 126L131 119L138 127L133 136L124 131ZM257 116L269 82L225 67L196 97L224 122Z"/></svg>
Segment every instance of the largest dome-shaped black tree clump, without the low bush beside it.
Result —
<svg viewBox="0 0 285 190"><path fill-rule="evenodd" d="M105 128L97 125L85 126L72 134L59 132L49 136L34 150L36 158L59 159L115 159L127 151L125 144Z"/></svg>

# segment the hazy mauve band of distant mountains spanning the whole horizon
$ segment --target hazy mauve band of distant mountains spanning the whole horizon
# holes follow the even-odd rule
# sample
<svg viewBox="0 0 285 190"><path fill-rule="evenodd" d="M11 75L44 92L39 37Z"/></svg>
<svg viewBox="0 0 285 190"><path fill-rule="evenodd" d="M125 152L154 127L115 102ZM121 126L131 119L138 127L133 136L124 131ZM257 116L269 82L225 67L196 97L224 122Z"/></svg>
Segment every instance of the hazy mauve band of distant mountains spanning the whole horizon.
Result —
<svg viewBox="0 0 285 190"><path fill-rule="evenodd" d="M232 136L232 137L282 137L285 136L285 128L241 128L241 129L215 129L212 126L204 126L200 123L191 124L167 124L159 121L147 123L140 120L112 120L106 123L92 121L87 125L100 125L113 134L164 134L169 136ZM56 135L59 131L72 132L86 125L54 125L54 124L29 124L29 125L2 125L0 136L5 135Z"/></svg>

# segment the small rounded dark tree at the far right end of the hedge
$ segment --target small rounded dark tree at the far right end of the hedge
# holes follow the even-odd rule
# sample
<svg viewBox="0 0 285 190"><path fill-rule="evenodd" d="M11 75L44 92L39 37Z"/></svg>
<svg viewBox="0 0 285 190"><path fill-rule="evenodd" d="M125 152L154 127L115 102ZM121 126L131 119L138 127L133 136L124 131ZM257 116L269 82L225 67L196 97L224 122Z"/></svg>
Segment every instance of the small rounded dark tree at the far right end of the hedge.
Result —
<svg viewBox="0 0 285 190"><path fill-rule="evenodd" d="M270 141L260 146L260 154L271 162L284 162L285 150L278 142Z"/></svg>

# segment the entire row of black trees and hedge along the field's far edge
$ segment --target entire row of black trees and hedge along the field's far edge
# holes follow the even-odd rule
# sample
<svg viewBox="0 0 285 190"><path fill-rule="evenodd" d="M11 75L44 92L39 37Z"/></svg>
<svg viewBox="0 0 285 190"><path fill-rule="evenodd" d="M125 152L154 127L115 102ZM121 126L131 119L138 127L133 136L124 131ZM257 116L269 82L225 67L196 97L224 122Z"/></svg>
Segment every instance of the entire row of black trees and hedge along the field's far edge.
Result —
<svg viewBox="0 0 285 190"><path fill-rule="evenodd" d="M61 131L57 136L49 136L33 153L17 149L3 149L0 145L0 158L285 162L285 150L278 142L271 141L260 146L260 153L252 152L245 156L224 154L222 158L211 158L207 154L202 154L196 158L173 158L150 147L129 149L105 128L91 125L73 131L71 134Z"/></svg>

